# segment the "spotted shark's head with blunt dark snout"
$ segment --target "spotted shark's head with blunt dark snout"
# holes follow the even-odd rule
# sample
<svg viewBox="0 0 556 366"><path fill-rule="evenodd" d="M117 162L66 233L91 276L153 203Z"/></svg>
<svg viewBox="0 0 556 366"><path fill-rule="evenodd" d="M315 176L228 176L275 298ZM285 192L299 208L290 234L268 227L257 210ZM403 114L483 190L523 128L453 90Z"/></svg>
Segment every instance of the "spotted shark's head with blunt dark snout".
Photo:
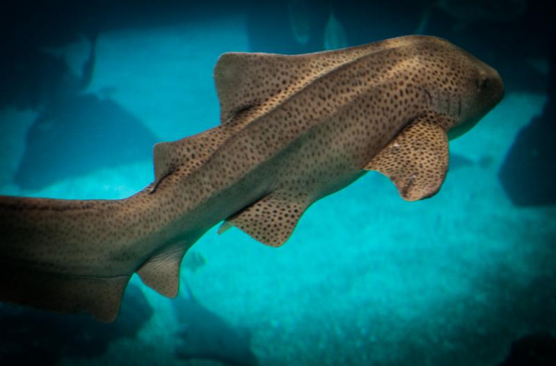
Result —
<svg viewBox="0 0 556 366"><path fill-rule="evenodd" d="M495 69L471 53L440 38L427 39L421 57L434 67L425 72L423 90L432 109L448 117L445 128L452 140L502 100L504 84Z"/></svg>

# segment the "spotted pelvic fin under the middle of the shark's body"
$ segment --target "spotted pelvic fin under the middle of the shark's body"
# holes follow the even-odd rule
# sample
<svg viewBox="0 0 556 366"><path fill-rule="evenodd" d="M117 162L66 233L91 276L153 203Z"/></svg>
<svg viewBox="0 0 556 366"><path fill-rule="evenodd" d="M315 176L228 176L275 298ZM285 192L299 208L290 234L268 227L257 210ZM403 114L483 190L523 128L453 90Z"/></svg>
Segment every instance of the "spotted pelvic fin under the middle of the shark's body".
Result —
<svg viewBox="0 0 556 366"><path fill-rule="evenodd" d="M265 245L280 247L290 238L308 206L306 199L297 194L272 192L227 219L218 233L236 226Z"/></svg>

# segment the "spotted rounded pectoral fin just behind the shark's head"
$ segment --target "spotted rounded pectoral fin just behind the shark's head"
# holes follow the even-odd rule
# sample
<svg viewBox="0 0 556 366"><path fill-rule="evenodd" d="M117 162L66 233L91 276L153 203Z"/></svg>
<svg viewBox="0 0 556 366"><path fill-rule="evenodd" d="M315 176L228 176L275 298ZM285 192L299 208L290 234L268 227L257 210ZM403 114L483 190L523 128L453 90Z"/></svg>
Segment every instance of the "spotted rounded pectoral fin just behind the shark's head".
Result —
<svg viewBox="0 0 556 366"><path fill-rule="evenodd" d="M448 171L448 136L434 115L419 117L363 169L388 176L407 201L431 197Z"/></svg>

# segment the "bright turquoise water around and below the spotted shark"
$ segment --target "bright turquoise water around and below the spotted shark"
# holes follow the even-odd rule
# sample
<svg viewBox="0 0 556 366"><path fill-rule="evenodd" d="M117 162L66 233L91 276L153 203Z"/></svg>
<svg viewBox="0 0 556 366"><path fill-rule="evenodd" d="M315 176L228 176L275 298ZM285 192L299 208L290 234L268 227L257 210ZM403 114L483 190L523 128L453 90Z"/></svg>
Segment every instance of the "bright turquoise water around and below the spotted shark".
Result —
<svg viewBox="0 0 556 366"><path fill-rule="evenodd" d="M88 47L81 38L48 51L79 74ZM220 53L260 50L236 11L101 31L96 51L82 92L115 101L170 141L218 124L212 69ZM182 276L206 308L247 329L261 365L496 365L516 338L556 329L556 208L516 207L498 179L514 138L546 100L541 91L507 90L450 142L473 163L450 170L431 199L403 201L372 172L311 206L279 249L214 228L190 249L206 263L195 272L184 267ZM153 180L152 161L141 159L19 188L12 177L38 114L0 111L0 194L118 199ZM88 159L94 165L95 151ZM218 365L177 361L171 300L132 281L154 307L138 336L115 340L96 358L65 356L60 365Z"/></svg>

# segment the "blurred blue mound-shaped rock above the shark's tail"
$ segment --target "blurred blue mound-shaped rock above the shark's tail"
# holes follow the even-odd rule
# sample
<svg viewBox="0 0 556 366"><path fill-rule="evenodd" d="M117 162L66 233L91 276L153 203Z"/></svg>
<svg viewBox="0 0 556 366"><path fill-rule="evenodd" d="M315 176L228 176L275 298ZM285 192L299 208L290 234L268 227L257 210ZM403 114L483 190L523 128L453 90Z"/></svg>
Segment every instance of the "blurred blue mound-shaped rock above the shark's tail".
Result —
<svg viewBox="0 0 556 366"><path fill-rule="evenodd" d="M35 120L14 180L21 188L38 190L101 167L149 160L156 140L114 101L75 95Z"/></svg>

